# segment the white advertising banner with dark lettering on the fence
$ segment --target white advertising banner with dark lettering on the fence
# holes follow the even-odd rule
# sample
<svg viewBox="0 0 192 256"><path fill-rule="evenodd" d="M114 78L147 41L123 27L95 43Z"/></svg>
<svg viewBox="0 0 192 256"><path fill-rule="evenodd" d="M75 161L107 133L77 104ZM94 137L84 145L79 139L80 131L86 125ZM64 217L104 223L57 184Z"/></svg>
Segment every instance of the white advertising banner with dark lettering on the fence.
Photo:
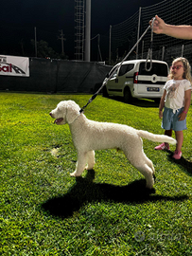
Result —
<svg viewBox="0 0 192 256"><path fill-rule="evenodd" d="M0 55L0 75L29 77L28 58Z"/></svg>

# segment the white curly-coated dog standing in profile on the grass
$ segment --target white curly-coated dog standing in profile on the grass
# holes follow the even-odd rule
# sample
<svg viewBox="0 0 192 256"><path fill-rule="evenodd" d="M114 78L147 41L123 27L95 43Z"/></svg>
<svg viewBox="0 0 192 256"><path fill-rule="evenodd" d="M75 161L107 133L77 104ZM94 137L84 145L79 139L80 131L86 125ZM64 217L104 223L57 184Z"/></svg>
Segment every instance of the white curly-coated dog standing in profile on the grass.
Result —
<svg viewBox="0 0 192 256"><path fill-rule="evenodd" d="M136 130L124 124L90 120L84 114L79 113L79 110L79 105L75 101L61 101L50 112L55 123L68 123L70 127L73 143L78 152L76 170L71 176L80 176L85 169L94 168L95 150L114 148L124 152L131 164L145 176L147 188L152 189L154 167L143 151L141 137L170 144L176 144L176 140L172 137Z"/></svg>

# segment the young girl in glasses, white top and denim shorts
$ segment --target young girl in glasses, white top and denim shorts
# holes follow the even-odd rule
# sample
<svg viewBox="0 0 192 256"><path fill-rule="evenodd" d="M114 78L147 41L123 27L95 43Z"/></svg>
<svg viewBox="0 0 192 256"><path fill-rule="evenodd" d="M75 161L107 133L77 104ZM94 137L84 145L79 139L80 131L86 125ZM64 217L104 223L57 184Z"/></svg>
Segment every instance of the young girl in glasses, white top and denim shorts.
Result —
<svg viewBox="0 0 192 256"><path fill-rule="evenodd" d="M183 130L186 129L186 114L191 103L191 82L191 66L188 61L182 57L174 60L160 101L159 118L163 118L162 128L166 130L166 136L171 137L172 130L175 131L177 146L172 156L175 159L182 156ZM169 145L162 143L155 150L169 150Z"/></svg>

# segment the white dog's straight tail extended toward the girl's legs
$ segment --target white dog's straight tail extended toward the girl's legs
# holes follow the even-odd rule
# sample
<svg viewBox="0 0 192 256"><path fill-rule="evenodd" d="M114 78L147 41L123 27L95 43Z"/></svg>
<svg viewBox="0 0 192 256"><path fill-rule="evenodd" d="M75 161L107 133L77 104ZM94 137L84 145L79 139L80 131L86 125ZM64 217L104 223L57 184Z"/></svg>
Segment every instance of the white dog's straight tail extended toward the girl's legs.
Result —
<svg viewBox="0 0 192 256"><path fill-rule="evenodd" d="M143 131L143 130L137 130L137 135L139 137L148 138L148 140L151 140L154 142L166 142L166 143L170 143L172 145L175 145L177 143L177 140L173 137L168 137L165 135L154 135L154 134L148 133L147 131Z"/></svg>

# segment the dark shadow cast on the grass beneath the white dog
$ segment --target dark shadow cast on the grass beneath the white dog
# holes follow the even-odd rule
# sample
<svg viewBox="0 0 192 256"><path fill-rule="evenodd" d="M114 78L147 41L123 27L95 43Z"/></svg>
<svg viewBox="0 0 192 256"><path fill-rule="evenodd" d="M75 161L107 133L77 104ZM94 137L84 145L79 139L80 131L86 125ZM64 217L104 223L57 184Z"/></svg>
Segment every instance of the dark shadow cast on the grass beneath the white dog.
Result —
<svg viewBox="0 0 192 256"><path fill-rule="evenodd" d="M140 179L127 186L115 186L106 183L94 183L95 171L88 171L87 175L76 178L76 184L64 195L50 198L42 205L43 210L49 214L67 218L78 211L85 203L113 201L125 204L141 204L146 201L183 201L188 197L163 196L154 194L154 190L146 189L146 180Z"/></svg>

